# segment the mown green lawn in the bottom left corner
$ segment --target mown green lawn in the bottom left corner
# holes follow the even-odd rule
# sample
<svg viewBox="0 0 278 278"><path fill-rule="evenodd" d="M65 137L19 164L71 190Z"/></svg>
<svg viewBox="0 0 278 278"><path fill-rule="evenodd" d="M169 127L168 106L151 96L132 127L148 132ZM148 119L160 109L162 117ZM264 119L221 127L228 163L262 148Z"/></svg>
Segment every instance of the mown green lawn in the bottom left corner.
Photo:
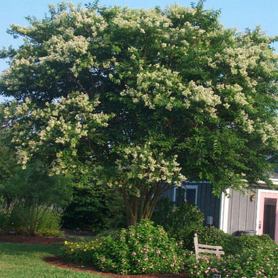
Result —
<svg viewBox="0 0 278 278"><path fill-rule="evenodd" d="M43 262L58 254L60 246L0 242L1 278L101 278L88 272L75 272Z"/></svg>

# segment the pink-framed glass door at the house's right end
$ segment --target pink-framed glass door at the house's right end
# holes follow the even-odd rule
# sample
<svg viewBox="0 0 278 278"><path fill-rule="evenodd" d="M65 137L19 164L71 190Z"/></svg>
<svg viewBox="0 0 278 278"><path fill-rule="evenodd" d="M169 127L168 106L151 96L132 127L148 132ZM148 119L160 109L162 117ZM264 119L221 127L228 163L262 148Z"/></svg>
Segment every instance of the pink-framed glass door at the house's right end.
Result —
<svg viewBox="0 0 278 278"><path fill-rule="evenodd" d="M267 234L278 243L278 193L260 194L258 234Z"/></svg>

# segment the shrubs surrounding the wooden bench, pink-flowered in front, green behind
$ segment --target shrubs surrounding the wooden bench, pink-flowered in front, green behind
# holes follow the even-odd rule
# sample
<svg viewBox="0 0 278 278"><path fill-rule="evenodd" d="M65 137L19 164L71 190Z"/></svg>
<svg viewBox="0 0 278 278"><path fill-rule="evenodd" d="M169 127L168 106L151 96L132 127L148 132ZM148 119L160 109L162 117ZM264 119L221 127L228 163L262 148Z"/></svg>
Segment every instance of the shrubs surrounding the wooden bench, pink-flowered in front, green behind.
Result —
<svg viewBox="0 0 278 278"><path fill-rule="evenodd" d="M225 256L204 255L196 262L191 253L185 264L190 277L278 277L278 246L269 235L236 237L215 227L202 227L197 235L201 244L222 246Z"/></svg>

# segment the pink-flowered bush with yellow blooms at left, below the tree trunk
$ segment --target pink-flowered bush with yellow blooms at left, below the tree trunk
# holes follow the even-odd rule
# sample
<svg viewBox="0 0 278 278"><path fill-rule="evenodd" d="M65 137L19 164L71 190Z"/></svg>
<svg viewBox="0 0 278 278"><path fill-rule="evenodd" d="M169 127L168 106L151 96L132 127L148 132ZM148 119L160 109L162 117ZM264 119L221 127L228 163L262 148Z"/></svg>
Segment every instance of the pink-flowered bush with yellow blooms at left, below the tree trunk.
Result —
<svg viewBox="0 0 278 278"><path fill-rule="evenodd" d="M170 239L163 227L154 227L149 220L116 235L65 242L63 248L65 259L117 274L181 272L184 256L180 244Z"/></svg>

